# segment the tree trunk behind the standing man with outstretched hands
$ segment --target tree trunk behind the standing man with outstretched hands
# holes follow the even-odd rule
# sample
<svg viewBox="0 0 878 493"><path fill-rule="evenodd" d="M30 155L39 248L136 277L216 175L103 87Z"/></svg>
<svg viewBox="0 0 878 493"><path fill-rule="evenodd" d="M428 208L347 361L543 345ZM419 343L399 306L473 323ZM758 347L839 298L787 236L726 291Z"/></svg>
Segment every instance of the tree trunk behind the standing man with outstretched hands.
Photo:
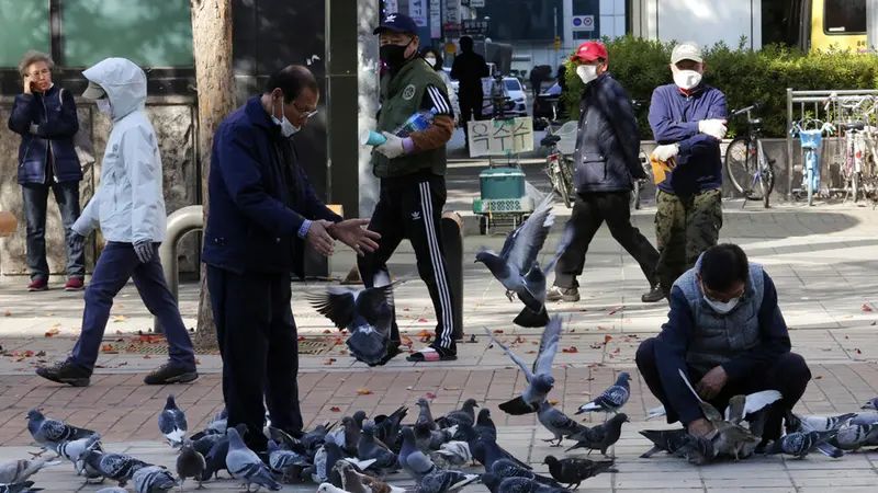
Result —
<svg viewBox="0 0 878 493"><path fill-rule="evenodd" d="M195 83L199 94L199 159L201 190L206 223L207 176L216 127L235 110L235 77L232 68L232 0L192 0L192 44L195 54ZM211 298L201 267L201 298L195 344L216 346Z"/></svg>

